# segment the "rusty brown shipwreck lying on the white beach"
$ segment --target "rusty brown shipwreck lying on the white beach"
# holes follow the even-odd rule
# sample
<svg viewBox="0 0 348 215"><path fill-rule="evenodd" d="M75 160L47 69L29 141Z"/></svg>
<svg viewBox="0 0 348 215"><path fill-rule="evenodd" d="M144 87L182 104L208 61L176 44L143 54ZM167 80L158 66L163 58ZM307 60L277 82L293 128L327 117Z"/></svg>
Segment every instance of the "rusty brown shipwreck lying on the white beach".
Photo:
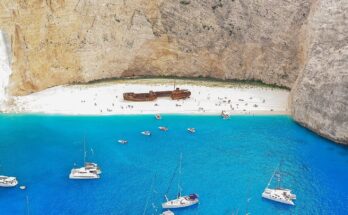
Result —
<svg viewBox="0 0 348 215"><path fill-rule="evenodd" d="M170 97L172 100L186 99L190 97L191 92L188 90L181 90L176 88L172 91L149 91L148 93L123 93L123 99L127 101L154 101L158 97Z"/></svg>

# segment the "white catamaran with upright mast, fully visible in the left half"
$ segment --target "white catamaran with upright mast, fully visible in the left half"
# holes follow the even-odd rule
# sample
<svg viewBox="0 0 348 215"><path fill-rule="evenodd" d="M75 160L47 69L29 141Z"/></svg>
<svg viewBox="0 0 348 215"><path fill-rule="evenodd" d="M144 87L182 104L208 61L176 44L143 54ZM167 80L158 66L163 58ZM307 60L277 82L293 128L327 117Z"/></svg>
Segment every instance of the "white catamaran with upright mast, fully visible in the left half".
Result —
<svg viewBox="0 0 348 215"><path fill-rule="evenodd" d="M70 179L99 179L101 170L96 163L86 162L86 141L83 141L83 163L84 166L80 168L73 168L70 172Z"/></svg>

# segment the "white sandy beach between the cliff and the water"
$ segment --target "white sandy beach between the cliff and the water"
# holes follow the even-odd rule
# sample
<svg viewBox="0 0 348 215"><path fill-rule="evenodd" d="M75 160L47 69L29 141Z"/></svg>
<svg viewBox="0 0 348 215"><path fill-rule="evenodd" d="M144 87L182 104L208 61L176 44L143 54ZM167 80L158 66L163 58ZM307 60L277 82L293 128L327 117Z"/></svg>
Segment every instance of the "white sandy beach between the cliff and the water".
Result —
<svg viewBox="0 0 348 215"><path fill-rule="evenodd" d="M178 85L191 91L186 100L159 98L153 102L123 100L124 92L172 90L168 83L97 83L58 86L27 96L12 97L6 113L48 113L71 115L121 114L288 114L289 91L262 86L210 87Z"/></svg>

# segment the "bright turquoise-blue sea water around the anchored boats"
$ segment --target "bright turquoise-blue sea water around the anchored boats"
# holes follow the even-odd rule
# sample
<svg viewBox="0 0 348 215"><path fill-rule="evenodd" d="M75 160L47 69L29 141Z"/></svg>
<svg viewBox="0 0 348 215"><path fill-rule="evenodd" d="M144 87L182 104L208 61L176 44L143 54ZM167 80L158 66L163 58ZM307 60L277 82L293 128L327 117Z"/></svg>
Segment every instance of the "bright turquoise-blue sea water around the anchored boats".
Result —
<svg viewBox="0 0 348 215"><path fill-rule="evenodd" d="M140 134L147 129L151 137ZM84 135L94 152L88 160L103 170L100 180L68 179L83 162ZM348 214L348 148L287 116L0 115L0 137L0 174L27 186L0 189L2 215L143 214L147 199L145 214L159 214L168 187L176 195L177 178L170 181L180 153L184 194L198 193L200 204L176 214ZM260 197L279 164L296 206Z"/></svg>

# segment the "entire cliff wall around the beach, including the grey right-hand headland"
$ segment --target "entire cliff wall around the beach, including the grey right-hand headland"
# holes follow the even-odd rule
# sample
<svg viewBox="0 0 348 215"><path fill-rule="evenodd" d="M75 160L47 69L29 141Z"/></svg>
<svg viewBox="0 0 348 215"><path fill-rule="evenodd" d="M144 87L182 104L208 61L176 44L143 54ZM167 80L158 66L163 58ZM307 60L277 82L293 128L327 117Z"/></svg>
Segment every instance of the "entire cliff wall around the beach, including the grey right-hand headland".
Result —
<svg viewBox="0 0 348 215"><path fill-rule="evenodd" d="M2 0L7 90L113 77L261 80L292 89L295 120L348 143L347 1Z"/></svg>

